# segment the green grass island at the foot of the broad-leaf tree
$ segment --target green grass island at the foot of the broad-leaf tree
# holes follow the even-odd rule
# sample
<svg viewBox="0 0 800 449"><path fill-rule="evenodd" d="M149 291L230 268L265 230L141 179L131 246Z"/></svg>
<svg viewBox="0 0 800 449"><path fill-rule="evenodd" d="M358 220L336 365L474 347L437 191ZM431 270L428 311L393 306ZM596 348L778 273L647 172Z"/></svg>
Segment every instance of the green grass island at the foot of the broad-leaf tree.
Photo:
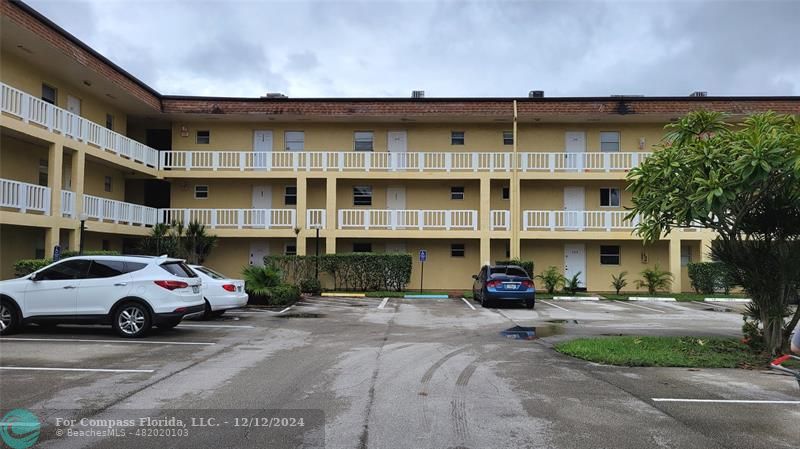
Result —
<svg viewBox="0 0 800 449"><path fill-rule="evenodd" d="M734 338L579 338L558 343L555 348L579 359L621 366L737 368L767 362Z"/></svg>

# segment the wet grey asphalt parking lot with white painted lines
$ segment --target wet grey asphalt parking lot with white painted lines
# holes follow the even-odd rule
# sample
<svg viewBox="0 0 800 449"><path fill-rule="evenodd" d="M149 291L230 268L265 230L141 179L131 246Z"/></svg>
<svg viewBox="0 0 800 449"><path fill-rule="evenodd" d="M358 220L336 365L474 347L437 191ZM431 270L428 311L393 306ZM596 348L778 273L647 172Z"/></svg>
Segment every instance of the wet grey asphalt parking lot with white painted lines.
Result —
<svg viewBox="0 0 800 449"><path fill-rule="evenodd" d="M0 339L0 397L3 409L81 416L324 413L324 424L275 447L796 447L800 389L791 378L601 366L551 349L576 335L735 336L741 317L724 310L737 307L544 300L527 310L462 299L310 298L140 340L106 327L30 326ZM515 325L541 338L500 335ZM226 427L214 438L233 447L246 434ZM112 438L42 438L42 447L123 447Z"/></svg>

